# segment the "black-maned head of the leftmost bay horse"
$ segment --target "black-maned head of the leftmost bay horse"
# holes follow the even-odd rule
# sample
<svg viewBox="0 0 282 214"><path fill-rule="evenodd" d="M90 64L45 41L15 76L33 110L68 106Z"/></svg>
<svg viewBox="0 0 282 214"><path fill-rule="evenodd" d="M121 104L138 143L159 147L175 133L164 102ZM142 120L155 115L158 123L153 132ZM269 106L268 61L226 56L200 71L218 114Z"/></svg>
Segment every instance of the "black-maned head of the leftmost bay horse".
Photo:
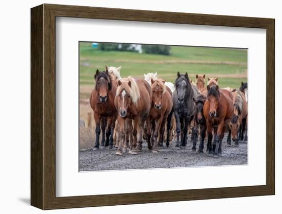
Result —
<svg viewBox="0 0 282 214"><path fill-rule="evenodd" d="M96 81L95 90L99 95L100 102L106 102L108 91L112 90L112 80L109 76L108 70L105 72L99 72L97 69L94 79Z"/></svg>

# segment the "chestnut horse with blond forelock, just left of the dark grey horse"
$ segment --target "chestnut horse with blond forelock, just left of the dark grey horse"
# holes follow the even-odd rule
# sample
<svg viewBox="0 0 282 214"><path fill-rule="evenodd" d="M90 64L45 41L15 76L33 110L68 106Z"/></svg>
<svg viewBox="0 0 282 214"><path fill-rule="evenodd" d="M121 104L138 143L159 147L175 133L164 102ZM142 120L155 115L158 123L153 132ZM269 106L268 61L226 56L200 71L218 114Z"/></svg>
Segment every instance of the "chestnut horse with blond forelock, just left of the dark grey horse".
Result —
<svg viewBox="0 0 282 214"><path fill-rule="evenodd" d="M162 146L164 141L165 124L167 122L167 147L169 146L169 131L170 120L172 115L172 93L168 86L164 83L166 81L162 79L151 79L152 83L152 103L151 110L147 117L147 141L149 150L152 149L151 140L153 145L153 153L158 152L158 145ZM170 114L171 113L171 114ZM153 124L153 129L151 125ZM153 136L152 136L153 133ZM159 144L157 143L158 133L160 133ZM152 138L151 138L152 136Z"/></svg>

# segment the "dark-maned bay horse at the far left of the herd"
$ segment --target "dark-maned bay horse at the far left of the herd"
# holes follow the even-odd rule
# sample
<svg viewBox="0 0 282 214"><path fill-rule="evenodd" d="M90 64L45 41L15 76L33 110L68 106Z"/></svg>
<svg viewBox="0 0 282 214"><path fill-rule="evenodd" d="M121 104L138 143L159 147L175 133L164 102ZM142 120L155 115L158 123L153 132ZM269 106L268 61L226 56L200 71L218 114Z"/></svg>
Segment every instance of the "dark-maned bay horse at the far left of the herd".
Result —
<svg viewBox="0 0 282 214"><path fill-rule="evenodd" d="M101 148L105 146L113 147L113 129L114 122L116 119L116 109L114 106L114 97L116 87L112 83L109 72L106 69L105 72L99 72L96 70L94 75L95 87L90 96L90 106L94 113L94 120L96 123L96 142L93 150L99 149L99 135L100 135L100 126L102 127L102 145ZM105 139L105 129L107 126L106 133L106 145L104 145Z"/></svg>

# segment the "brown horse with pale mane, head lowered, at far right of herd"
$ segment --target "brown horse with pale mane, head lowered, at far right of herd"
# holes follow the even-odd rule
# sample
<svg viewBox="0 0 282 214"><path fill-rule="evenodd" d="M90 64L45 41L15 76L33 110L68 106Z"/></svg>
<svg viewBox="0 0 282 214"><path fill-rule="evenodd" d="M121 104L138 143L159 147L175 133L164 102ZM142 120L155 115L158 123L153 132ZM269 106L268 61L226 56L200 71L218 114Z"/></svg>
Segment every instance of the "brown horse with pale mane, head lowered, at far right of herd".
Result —
<svg viewBox="0 0 282 214"><path fill-rule="evenodd" d="M231 92L233 96L234 114L229 122L227 144L231 146L231 138L234 141L234 146L238 146L239 129L242 126L242 121L247 116L247 102L243 92L239 90L233 90Z"/></svg>

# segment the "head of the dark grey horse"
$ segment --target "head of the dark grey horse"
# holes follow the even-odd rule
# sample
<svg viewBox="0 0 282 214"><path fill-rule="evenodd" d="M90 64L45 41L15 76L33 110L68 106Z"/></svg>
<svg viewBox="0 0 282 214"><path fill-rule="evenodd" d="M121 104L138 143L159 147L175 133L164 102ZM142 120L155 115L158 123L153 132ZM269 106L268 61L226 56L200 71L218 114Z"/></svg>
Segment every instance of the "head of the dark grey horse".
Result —
<svg viewBox="0 0 282 214"><path fill-rule="evenodd" d="M189 81L188 73L185 75L177 73L177 78L174 82L175 91L177 93L178 103L182 104L185 100L185 95L191 90L191 83Z"/></svg>

